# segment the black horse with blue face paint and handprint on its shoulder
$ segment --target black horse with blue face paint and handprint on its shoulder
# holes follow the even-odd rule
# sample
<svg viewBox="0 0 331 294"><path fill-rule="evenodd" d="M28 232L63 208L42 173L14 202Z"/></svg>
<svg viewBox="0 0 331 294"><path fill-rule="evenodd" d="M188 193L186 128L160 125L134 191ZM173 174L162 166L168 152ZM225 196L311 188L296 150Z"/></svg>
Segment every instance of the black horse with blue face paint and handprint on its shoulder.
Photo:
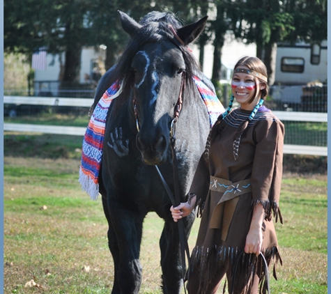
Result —
<svg viewBox="0 0 331 294"><path fill-rule="evenodd" d="M172 13L149 13L139 24L118 13L131 40L118 63L100 80L94 103L111 84L121 81L121 94L107 114L99 183L115 268L111 293L139 292L142 227L144 217L153 211L164 219L160 238L163 292L176 294L183 285L178 225L171 218L171 201L154 165L160 165L173 189L169 130L179 105L176 158L183 201L210 130L208 111L193 75L209 85L210 81L187 49L207 17L181 26ZM187 237L193 222L194 214L185 217Z"/></svg>

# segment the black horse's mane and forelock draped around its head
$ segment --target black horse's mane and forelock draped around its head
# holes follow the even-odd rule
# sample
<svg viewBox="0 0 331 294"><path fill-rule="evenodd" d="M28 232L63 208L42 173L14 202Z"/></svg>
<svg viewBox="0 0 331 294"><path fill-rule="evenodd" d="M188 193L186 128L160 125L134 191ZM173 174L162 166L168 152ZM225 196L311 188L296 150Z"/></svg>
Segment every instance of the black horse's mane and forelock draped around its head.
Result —
<svg viewBox="0 0 331 294"><path fill-rule="evenodd" d="M139 52L141 47L151 42L160 42L162 40L169 40L174 42L174 44L180 49L185 60L185 91L193 86L194 82L192 80L192 75L196 75L197 71L200 70L199 63L194 58L193 54L187 49L187 47L181 45L175 38L174 33L172 33L169 25L173 28L180 29L182 24L174 13L160 13L153 11L148 13L140 22L141 29L137 36L134 36L130 42L128 42L125 51L123 52L118 63L116 64L116 69L114 70L114 75L111 77L111 84L116 81L123 82L123 92L117 99L121 102L125 102L130 97L131 88L134 86L134 72L131 68L132 59ZM121 103L122 105L122 103ZM119 106L119 105L118 105Z"/></svg>

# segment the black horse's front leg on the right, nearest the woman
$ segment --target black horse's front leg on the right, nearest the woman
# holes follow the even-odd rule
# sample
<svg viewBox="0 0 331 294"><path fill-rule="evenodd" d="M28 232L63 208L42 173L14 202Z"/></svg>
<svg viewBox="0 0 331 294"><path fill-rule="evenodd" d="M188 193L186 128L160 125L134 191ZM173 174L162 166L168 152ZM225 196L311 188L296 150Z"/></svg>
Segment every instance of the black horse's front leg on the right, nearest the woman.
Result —
<svg viewBox="0 0 331 294"><path fill-rule="evenodd" d="M194 215L183 218L186 238L190 234ZM168 219L164 223L164 228L160 238L161 268L162 268L162 288L164 294L179 294L183 286L183 271L180 259L178 224L174 220Z"/></svg>

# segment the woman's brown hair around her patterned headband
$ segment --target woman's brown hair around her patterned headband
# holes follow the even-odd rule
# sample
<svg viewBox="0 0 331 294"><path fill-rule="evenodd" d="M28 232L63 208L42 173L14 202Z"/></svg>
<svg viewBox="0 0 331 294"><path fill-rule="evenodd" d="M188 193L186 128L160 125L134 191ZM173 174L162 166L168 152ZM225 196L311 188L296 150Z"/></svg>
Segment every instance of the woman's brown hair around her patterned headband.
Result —
<svg viewBox="0 0 331 294"><path fill-rule="evenodd" d="M261 59L254 57L254 56L244 56L241 59L238 60L238 62L236 63L236 65L234 66L234 70L236 70L236 68L238 68L239 66L247 66L247 68L249 68L249 70L252 70L254 72L257 72L261 75L263 75L264 77L268 77L267 74L267 68L265 67L264 63L261 61ZM268 83L266 83L265 81L263 81L263 79L260 79L259 77L253 76L254 80L256 82L256 79L259 79L259 84L265 84L265 88L263 88L262 90L260 89L261 92L261 99L265 99L268 96L269 93L269 86ZM257 94L258 88L255 88L255 93L252 97L251 100L249 100L249 103L252 103L253 100L256 98L256 94Z"/></svg>

